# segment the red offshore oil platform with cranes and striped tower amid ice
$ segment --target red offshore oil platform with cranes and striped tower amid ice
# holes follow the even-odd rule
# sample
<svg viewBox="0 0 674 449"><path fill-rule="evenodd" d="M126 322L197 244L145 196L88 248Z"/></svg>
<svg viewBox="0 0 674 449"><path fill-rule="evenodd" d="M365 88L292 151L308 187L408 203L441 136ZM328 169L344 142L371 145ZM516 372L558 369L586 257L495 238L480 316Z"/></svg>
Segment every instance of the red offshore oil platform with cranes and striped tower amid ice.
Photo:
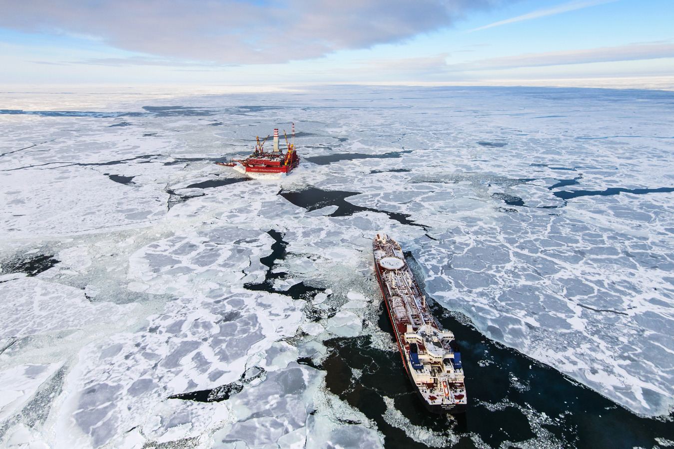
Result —
<svg viewBox="0 0 674 449"><path fill-rule="evenodd" d="M286 135L285 137L285 153L283 149L278 147L278 129L274 129L274 149L272 151L264 151L264 143L269 139L269 136L262 142L257 137L255 151L246 159L218 164L233 167L239 162L241 168L245 169L246 174L288 174L290 170L293 170L299 164L299 156L297 156L297 151L295 151L295 123L293 123L293 143L288 143L288 136Z"/></svg>

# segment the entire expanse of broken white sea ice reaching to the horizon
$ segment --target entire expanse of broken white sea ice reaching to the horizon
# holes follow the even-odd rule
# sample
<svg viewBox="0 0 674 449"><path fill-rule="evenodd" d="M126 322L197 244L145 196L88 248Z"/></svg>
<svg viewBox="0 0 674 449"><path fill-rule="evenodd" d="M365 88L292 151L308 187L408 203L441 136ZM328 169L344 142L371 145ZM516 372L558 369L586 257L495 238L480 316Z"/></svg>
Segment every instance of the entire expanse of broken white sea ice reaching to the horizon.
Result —
<svg viewBox="0 0 674 449"><path fill-rule="evenodd" d="M487 337L634 413L671 411L674 193L639 190L674 186L671 94L133 93L0 94L0 446L380 447L297 363L336 336L394 349L376 325L379 231ZM209 158L293 121L290 176L192 186L241 178ZM344 158L309 162L328 155ZM278 195L309 187L369 210L330 217L336 205ZM280 293L251 291L270 230L286 275ZM58 263L12 273L38 255ZM336 314L316 322L282 294L300 281ZM168 399L221 386L231 399Z"/></svg>

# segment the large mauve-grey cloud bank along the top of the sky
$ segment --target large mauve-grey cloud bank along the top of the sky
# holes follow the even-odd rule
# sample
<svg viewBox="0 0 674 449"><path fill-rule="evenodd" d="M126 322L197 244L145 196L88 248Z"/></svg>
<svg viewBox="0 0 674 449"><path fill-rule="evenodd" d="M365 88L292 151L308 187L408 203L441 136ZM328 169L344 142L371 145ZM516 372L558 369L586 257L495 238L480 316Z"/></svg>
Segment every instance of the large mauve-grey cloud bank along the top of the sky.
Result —
<svg viewBox="0 0 674 449"><path fill-rule="evenodd" d="M514 0L0 0L0 26L218 64L283 63L400 42Z"/></svg>

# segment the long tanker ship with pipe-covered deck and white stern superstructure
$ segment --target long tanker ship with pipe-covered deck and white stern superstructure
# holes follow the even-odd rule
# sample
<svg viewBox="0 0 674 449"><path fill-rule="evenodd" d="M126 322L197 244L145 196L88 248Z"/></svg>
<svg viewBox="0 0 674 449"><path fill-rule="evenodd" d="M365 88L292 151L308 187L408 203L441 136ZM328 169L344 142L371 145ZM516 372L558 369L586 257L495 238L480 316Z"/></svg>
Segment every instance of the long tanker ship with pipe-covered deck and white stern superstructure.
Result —
<svg viewBox="0 0 674 449"><path fill-rule="evenodd" d="M412 385L433 413L466 411L461 354L454 334L439 329L398 242L377 234L372 248L381 293Z"/></svg>

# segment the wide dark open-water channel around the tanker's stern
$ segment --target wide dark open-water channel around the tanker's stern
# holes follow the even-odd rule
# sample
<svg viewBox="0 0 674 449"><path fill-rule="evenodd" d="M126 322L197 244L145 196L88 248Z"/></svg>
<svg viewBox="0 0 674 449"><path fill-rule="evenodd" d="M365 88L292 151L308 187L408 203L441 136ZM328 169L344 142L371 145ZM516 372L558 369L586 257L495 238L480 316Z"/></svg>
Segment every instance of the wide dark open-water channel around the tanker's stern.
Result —
<svg viewBox="0 0 674 449"><path fill-rule="evenodd" d="M458 417L428 413L412 390L398 351L371 347L368 336L326 342L330 355L322 369L326 385L377 423L388 449L427 448L386 421L383 396L394 399L412 425L449 437L446 446L479 448L659 448L655 438L674 441L674 423L639 417L556 370L493 343L465 318L433 305L433 314L461 345L468 410ZM384 310L379 327L392 333ZM362 370L353 378L351 368ZM405 427L402 425L400 427ZM458 441L457 441L458 440ZM527 443L524 443L527 442ZM520 444L530 444L521 446Z"/></svg>

